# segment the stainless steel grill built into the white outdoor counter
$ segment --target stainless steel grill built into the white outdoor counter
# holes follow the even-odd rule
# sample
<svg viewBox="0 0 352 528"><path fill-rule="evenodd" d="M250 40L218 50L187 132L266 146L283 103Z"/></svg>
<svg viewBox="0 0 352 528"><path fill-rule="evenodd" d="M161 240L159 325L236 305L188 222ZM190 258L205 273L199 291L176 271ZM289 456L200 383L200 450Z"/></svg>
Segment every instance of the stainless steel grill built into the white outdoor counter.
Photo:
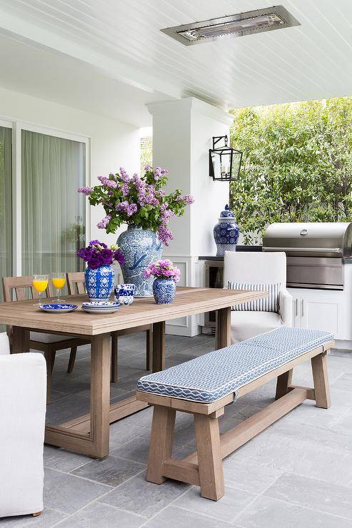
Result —
<svg viewBox="0 0 352 528"><path fill-rule="evenodd" d="M273 223L263 251L284 251L291 288L343 290L343 264L352 259L352 223Z"/></svg>

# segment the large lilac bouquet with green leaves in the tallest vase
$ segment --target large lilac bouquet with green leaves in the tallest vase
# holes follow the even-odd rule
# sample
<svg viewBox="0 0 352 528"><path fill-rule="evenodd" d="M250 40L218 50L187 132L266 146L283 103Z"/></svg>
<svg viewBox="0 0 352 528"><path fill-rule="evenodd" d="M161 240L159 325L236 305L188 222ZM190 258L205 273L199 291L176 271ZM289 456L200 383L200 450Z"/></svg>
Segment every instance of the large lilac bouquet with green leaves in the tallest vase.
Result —
<svg viewBox="0 0 352 528"><path fill-rule="evenodd" d="M179 189L166 195L163 187L168 182L168 171L165 168L146 165L144 171L144 176L129 176L120 168L119 173L99 176L101 185L80 187L78 192L88 196L91 205L103 205L105 216L97 225L106 233L116 233L122 223L127 223L153 230L164 245L169 245L174 238L169 221L175 215L183 215L193 198L182 195Z"/></svg>

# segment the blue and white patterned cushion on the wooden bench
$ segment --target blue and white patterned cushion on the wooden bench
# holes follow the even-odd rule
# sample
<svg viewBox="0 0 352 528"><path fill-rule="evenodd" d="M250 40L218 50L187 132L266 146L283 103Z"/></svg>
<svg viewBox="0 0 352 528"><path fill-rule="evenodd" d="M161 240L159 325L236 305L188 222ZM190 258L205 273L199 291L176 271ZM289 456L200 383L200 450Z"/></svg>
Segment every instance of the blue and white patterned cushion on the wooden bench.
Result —
<svg viewBox="0 0 352 528"><path fill-rule="evenodd" d="M276 328L215 352L155 372L137 389L194 402L213 402L309 350L333 340L333 334L306 328Z"/></svg>

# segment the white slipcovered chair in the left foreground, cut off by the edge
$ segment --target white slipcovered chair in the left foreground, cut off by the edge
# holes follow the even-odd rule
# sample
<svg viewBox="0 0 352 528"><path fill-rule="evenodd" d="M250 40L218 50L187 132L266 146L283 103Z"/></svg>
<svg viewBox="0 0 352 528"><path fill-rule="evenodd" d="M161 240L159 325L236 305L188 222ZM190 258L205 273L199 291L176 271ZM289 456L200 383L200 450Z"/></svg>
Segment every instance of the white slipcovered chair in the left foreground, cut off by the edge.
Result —
<svg viewBox="0 0 352 528"><path fill-rule="evenodd" d="M46 362L0 334L0 517L43 509ZM0 520L1 524L1 520Z"/></svg>

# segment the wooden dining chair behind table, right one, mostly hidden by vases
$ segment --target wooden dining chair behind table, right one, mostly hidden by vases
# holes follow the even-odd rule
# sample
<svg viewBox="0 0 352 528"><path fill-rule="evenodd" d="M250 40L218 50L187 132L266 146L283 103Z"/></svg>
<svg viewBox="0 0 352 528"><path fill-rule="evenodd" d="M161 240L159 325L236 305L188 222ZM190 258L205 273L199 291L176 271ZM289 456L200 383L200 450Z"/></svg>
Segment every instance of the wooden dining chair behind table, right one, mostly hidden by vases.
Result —
<svg viewBox="0 0 352 528"><path fill-rule="evenodd" d="M84 271L67 273L67 285L69 286L69 293L71 295L76 295L77 293L85 294ZM153 347L152 325L143 325L136 328L118 330L111 333L111 382L117 381L118 377L117 361L119 354L119 336L135 334L137 332L146 332L146 370L151 370L151 350Z"/></svg>

